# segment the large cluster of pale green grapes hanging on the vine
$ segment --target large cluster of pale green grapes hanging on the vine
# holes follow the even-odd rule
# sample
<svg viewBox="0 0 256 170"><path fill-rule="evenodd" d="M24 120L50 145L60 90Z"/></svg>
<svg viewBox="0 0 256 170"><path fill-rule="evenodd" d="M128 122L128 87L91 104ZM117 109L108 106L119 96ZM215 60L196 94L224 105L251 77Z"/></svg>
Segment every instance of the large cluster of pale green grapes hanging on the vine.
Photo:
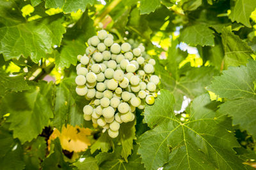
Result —
<svg viewBox="0 0 256 170"><path fill-rule="evenodd" d="M105 30L88 39L86 53L78 55L76 92L90 104L84 106L84 120L92 120L111 138L118 136L120 124L132 122L135 109L154 104L159 77L153 75L154 59L145 60L142 52L129 43L118 45Z"/></svg>

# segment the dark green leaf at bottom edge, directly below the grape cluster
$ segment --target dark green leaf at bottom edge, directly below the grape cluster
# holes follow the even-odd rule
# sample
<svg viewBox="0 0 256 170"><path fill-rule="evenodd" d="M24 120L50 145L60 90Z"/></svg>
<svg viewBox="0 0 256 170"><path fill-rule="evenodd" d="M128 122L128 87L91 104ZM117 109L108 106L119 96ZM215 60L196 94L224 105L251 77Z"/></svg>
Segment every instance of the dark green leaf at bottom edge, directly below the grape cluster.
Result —
<svg viewBox="0 0 256 170"><path fill-rule="evenodd" d="M120 157L122 148L116 147L113 153L99 153L96 156L100 169L118 169L118 170L133 170L133 169L145 169L141 163L141 158L138 155L138 145L133 146L134 150L132 155L128 158L128 162L125 162Z"/></svg>

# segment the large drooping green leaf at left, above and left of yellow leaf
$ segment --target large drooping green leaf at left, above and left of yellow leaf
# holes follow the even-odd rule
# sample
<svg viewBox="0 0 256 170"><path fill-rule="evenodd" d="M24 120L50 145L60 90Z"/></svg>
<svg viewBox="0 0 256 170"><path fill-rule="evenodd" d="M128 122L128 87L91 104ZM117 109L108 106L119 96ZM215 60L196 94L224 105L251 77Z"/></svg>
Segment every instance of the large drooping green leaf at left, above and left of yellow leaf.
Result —
<svg viewBox="0 0 256 170"><path fill-rule="evenodd" d="M29 91L4 97L4 103L8 106L5 111L10 113L7 121L10 122L13 138L19 138L21 143L31 141L49 124L49 119L53 117L53 92L52 83L40 81Z"/></svg>

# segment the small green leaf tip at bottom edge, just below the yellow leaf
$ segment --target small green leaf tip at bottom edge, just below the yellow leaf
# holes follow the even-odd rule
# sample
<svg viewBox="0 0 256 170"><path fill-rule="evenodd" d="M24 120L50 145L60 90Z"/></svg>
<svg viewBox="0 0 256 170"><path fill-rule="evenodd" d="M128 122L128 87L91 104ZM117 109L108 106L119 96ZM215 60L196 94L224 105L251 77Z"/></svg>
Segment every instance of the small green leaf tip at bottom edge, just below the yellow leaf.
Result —
<svg viewBox="0 0 256 170"><path fill-rule="evenodd" d="M79 160L73 164L79 170L98 170L97 159L93 157L86 157L83 162Z"/></svg>

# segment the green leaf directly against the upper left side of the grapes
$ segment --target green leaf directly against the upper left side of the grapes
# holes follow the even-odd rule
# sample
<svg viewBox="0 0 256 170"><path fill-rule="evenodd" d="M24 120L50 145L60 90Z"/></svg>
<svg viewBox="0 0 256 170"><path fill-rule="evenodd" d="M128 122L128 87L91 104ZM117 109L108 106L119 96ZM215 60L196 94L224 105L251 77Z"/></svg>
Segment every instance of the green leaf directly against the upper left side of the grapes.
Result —
<svg viewBox="0 0 256 170"><path fill-rule="evenodd" d="M77 55L84 55L85 42L95 34L93 20L84 13L77 23L67 29L63 38L60 55L56 55L57 67L69 67L77 64Z"/></svg>

